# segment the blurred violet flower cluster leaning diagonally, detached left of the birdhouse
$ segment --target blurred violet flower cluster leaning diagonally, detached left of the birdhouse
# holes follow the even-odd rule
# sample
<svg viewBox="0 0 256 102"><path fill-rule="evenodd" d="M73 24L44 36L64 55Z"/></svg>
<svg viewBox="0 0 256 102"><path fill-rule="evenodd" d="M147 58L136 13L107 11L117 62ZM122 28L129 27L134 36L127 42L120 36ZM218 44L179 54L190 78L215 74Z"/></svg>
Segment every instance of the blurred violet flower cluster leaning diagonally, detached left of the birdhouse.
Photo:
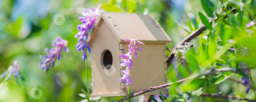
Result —
<svg viewBox="0 0 256 102"><path fill-rule="evenodd" d="M57 37L55 41L52 41L52 46L54 46L51 49L46 48L45 51L48 55L46 56L40 56L43 60L41 63L39 63L39 67L41 70L46 69L46 72L48 72L51 64L52 67L54 67L54 63L56 59L60 60L61 51L64 48L65 52L68 52L69 49L67 48L68 41L65 39L62 39L61 37Z"/></svg>

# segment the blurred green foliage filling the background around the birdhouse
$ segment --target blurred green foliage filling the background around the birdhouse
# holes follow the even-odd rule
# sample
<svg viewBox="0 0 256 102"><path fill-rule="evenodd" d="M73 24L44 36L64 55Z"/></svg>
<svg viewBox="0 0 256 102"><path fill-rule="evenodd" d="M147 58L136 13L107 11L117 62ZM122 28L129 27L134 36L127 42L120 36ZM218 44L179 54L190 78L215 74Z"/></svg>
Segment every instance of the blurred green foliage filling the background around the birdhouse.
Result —
<svg viewBox="0 0 256 102"><path fill-rule="evenodd" d="M78 32L76 26L81 24L78 17L82 8L96 7L102 4L102 9L111 12L135 12L158 16L160 25L172 39L167 47L172 49L182 39L199 27L206 25L207 30L190 41L194 46L184 54L184 67L176 65L175 59L168 68L168 82L203 73L212 66L216 69L241 66L256 67L255 27L247 30L246 24L255 18L254 0L0 0L0 73L8 66L7 63L18 60L22 77L25 79L4 81L0 79L0 101L81 101L85 99L81 89L86 89L85 63L82 53L75 49ZM232 15L231 9L238 9ZM221 17L227 13L227 19ZM61 14L65 17L64 25L54 23L53 17ZM220 21L209 20L213 17ZM57 19L61 21L62 19ZM38 67L40 55L46 55L44 49L51 48L52 40L57 36L69 41L68 53L62 53L62 59L56 61L55 67L44 73ZM166 50L167 55L171 51ZM88 62L90 62L90 55ZM90 63L89 63L89 73ZM254 79L255 70L251 70ZM255 99L253 88L248 94L246 86L229 78L241 81L246 74L220 72L214 75L190 79L182 84L175 83L169 87L167 101L219 101L212 97L198 97L201 93L219 93L228 95L238 93L241 97ZM248 77L248 76L246 76ZM255 81L251 85L255 85ZM89 84L91 88L91 84ZM31 89L38 87L42 97L34 99ZM253 86L255 87L255 86ZM35 93L38 94L38 93ZM82 96L82 97L80 97ZM101 101L114 101L122 97L104 97ZM153 97L150 97L154 101Z"/></svg>

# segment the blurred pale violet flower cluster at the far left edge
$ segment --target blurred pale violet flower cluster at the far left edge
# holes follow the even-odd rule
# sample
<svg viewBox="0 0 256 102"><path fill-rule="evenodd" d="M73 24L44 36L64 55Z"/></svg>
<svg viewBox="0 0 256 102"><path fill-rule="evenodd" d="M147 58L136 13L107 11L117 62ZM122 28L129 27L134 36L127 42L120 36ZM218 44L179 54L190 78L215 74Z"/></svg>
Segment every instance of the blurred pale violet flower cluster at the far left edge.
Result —
<svg viewBox="0 0 256 102"><path fill-rule="evenodd" d="M2 79L3 77L5 77L7 75L7 77L4 79L4 81L7 81L8 79L11 78L12 75L14 75L15 79L17 79L17 77L21 78L22 80L24 80L22 77L21 77L21 73L20 73L20 67L18 66L18 61L15 60L13 62L12 65L10 65L8 67L8 69L0 75L0 79Z"/></svg>

